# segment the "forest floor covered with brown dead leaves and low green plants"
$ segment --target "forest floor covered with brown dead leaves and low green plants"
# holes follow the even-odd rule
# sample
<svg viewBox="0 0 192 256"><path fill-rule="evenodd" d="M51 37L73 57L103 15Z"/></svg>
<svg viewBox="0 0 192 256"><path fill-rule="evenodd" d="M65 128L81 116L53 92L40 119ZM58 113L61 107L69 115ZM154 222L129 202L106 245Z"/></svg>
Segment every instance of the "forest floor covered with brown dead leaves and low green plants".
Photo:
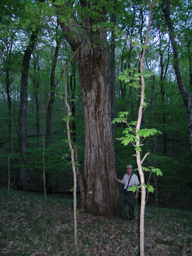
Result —
<svg viewBox="0 0 192 256"><path fill-rule="evenodd" d="M71 199L0 189L1 256L73 256ZM139 206L137 206L139 211ZM137 214L138 215L138 214ZM138 221L77 214L78 255L139 255ZM192 211L146 206L145 255L192 255Z"/></svg>

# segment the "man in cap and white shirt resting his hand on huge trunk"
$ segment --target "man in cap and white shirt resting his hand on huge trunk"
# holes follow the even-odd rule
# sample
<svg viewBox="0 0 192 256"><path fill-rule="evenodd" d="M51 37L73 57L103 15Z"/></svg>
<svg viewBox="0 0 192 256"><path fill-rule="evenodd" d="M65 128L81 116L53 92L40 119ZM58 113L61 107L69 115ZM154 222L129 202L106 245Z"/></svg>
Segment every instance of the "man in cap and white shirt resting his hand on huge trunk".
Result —
<svg viewBox="0 0 192 256"><path fill-rule="evenodd" d="M129 215L130 215L130 221L134 223L134 203L135 200L138 198L138 192L139 189L137 188L136 194L133 193L133 191L129 191L129 188L133 186L139 186L139 179L136 174L133 174L133 167L132 165L127 165L127 174L124 175L123 180L117 179L116 175L114 174L114 179L117 180L119 183L124 184L124 193L121 195L121 199L119 202L122 219L120 222L123 222L127 220L127 216L125 213L125 205L127 203L129 207Z"/></svg>

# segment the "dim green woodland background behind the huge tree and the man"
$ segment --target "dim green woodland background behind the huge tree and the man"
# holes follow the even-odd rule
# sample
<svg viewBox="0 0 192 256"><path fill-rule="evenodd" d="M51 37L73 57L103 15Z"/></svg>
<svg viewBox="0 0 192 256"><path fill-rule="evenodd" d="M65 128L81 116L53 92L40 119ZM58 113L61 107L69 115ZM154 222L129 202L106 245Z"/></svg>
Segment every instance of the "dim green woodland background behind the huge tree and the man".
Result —
<svg viewBox="0 0 192 256"><path fill-rule="evenodd" d="M73 188L73 172L66 134L63 67L73 53L66 35L61 32L55 18L58 14L54 9L57 8L56 4L63 4L65 1L55 1L57 3L54 8L53 5L47 5L46 1L24 2L1 1L0 183L2 187L8 186L10 170L11 188L43 192L44 161L47 192L54 195L69 194ZM77 8L80 14L76 18L81 18L82 22L78 33L85 33L81 29L87 25L83 23L83 15L86 8L89 7L90 10L91 2L80 2L81 5L77 5L74 1L73 8ZM107 17L103 23L98 21L98 10L92 10L90 16L92 15L92 27L109 27L104 46L110 50L112 117L117 117L120 111L129 111L129 121L136 121L139 88L135 89L131 83L119 81L118 75L126 69L130 76L139 72L137 54L126 37L138 41L135 47L141 54L140 44L144 42L149 7L140 1L108 2L109 10L99 14L101 18L102 15ZM186 103L192 86L191 3L176 1L171 5L170 11L177 43L177 60L185 89L183 97L175 75L173 47L166 22L169 6L165 2L154 9L145 59L145 69L153 71L154 75L146 78L145 101L148 106L143 112L142 128L155 127L162 134L143 142L142 155L150 152L143 166L158 167L163 172L163 177L145 174L146 182L150 178L149 183L156 189L154 194L148 195L147 203L191 209L191 102L189 100ZM103 1L98 1L96 6L102 7L103 4ZM66 6L69 14L74 10L71 6ZM62 17L63 20L59 17L60 22L68 25L69 17L64 14ZM115 23L123 31L123 35L114 33L112 28ZM87 26L86 33L92 29L91 26ZM98 35L100 31L97 30ZM75 38L78 33L72 36ZM84 34L81 36L85 37ZM91 36L90 47L93 49L103 43L98 41L95 34ZM70 121L71 138L73 145L77 146L79 170L83 173L84 157L86 158L84 107L81 78L75 58L71 60L65 76L73 113ZM115 140L122 136L124 128L123 124L113 127L119 179L126 173L127 164L137 168L132 145L124 147L121 141Z"/></svg>

